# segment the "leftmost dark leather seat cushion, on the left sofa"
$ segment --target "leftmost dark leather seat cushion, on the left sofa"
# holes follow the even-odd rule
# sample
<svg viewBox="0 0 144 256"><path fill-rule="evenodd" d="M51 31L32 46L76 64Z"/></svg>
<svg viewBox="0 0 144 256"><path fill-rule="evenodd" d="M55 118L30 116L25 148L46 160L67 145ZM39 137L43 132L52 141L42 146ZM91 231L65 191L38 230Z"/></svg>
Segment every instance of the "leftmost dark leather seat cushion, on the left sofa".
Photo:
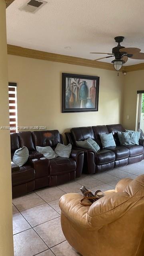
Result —
<svg viewBox="0 0 144 256"><path fill-rule="evenodd" d="M34 180L35 170L30 165L20 167L19 171L12 173L12 186L23 184Z"/></svg>

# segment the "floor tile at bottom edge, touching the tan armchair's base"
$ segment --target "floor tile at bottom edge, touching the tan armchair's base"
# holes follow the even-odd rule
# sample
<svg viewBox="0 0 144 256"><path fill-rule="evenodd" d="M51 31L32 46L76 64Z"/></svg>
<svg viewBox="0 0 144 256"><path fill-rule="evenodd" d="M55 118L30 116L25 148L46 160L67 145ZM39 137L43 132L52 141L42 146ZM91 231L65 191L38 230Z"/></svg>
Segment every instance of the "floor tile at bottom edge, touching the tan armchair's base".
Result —
<svg viewBox="0 0 144 256"><path fill-rule="evenodd" d="M54 252L54 254L56 254L56 256L78 256L78 255L80 255L70 246L70 244L68 244L67 241L54 246L51 250L52 250L52 252Z"/></svg>

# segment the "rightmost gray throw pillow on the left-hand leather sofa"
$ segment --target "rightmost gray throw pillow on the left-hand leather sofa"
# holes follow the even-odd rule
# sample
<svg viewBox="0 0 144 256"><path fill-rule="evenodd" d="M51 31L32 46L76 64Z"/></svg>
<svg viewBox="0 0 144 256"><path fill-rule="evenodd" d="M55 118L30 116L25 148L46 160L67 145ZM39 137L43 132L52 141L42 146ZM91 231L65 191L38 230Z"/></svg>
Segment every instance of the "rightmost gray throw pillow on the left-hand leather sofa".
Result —
<svg viewBox="0 0 144 256"><path fill-rule="evenodd" d="M64 145L64 144L58 143L54 151L60 157L69 158L72 151L72 145L71 144Z"/></svg>

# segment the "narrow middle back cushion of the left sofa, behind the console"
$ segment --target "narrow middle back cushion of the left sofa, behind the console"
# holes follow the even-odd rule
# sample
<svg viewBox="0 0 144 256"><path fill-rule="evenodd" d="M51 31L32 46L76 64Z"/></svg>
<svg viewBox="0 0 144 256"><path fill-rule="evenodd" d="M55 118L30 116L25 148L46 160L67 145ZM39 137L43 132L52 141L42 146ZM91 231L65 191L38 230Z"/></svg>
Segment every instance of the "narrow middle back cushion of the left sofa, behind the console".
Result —
<svg viewBox="0 0 144 256"><path fill-rule="evenodd" d="M36 151L33 140L32 140L32 132L30 131L18 132L18 136L19 136L21 148L25 146L28 148L29 152Z"/></svg>

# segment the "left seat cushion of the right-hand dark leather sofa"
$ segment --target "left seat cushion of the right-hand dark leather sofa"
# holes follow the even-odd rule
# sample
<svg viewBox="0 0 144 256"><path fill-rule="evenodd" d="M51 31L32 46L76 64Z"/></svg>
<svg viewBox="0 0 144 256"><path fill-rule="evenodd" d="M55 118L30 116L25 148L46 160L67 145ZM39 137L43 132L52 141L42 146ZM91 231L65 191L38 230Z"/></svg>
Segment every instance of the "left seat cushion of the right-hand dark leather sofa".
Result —
<svg viewBox="0 0 144 256"><path fill-rule="evenodd" d="M116 159L114 152L102 149L96 153L96 164L106 164Z"/></svg>

